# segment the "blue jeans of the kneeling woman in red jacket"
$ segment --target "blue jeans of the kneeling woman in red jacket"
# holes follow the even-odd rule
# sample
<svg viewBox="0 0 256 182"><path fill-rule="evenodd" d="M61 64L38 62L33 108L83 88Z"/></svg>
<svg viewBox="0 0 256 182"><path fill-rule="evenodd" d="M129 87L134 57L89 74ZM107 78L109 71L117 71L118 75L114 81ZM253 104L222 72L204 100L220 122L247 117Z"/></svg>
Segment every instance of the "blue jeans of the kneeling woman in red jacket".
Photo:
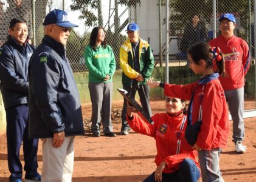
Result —
<svg viewBox="0 0 256 182"><path fill-rule="evenodd" d="M162 182L196 182L200 178L200 172L193 160L185 158L181 163L181 169L172 173L162 173ZM143 182L155 182L154 172Z"/></svg>

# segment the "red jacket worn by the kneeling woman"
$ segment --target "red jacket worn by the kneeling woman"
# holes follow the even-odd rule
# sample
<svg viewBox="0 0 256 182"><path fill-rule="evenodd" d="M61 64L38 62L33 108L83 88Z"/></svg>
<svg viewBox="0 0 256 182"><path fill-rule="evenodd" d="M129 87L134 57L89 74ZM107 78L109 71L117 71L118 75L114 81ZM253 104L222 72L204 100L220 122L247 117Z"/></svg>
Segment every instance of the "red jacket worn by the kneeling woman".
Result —
<svg viewBox="0 0 256 182"><path fill-rule="evenodd" d="M126 119L130 127L137 133L152 136L156 140L157 155L154 162L159 166L162 161L167 163L164 173L175 172L179 169L184 158L192 159L199 168L197 153L185 140L187 116L170 116L167 113L157 113L151 117L151 125L134 114L133 120Z"/></svg>

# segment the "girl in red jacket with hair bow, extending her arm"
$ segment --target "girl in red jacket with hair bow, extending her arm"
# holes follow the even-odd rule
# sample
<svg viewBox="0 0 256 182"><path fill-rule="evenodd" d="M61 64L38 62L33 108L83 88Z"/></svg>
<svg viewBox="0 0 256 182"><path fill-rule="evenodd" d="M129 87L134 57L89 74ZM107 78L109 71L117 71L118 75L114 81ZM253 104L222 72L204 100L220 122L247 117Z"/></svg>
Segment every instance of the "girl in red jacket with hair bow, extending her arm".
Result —
<svg viewBox="0 0 256 182"><path fill-rule="evenodd" d="M175 85L150 79L148 84L163 87L165 95L190 99L187 117L190 130L186 130L185 137L198 150L202 181L224 181L219 160L221 149L227 145L229 115L218 79L219 75L225 75L223 54L218 47L201 42L188 50L188 58L190 69L202 75L196 83ZM213 72L213 63L218 67L217 72Z"/></svg>

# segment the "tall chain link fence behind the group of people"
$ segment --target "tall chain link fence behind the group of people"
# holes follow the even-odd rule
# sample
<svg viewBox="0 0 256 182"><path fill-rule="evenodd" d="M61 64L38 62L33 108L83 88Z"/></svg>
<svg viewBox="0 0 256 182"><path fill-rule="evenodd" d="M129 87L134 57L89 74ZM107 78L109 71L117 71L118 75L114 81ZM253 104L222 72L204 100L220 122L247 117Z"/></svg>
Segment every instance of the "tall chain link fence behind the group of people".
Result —
<svg viewBox="0 0 256 182"><path fill-rule="evenodd" d="M33 38L32 1L0 0L1 45L6 41L9 22L14 17L27 20L30 38ZM253 12L253 4L250 8L249 2L249 0L216 0L216 35L220 34L218 31L220 15L233 13L237 19L235 35L245 39L253 49L254 44L251 44L251 41L254 42L252 39L254 30L251 31L251 27L253 29L254 26L250 23L249 14ZM71 31L66 45L67 57L74 72L87 70L83 52L89 42L92 28L97 25L102 25L107 31L106 40L114 50L117 69L120 69L119 49L127 38L125 29L129 22L137 22L140 27L140 37L150 43L155 56L155 66L162 66L162 62L165 62L165 0L36 0L34 35L36 45L40 44L44 35L43 19L54 8L64 8L69 14L69 20L79 25ZM187 49L197 42L209 41L215 34L213 1L170 0L169 15L169 66L184 66L187 62Z"/></svg>

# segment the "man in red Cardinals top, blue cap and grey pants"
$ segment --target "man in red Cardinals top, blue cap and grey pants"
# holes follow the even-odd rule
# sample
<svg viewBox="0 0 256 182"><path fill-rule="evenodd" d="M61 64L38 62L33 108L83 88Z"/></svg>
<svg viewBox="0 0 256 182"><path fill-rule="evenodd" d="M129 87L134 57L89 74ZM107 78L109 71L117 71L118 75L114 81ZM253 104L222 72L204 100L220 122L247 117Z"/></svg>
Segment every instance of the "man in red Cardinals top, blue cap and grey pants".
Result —
<svg viewBox="0 0 256 182"><path fill-rule="evenodd" d="M224 54L227 76L220 76L220 82L233 120L232 138L235 151L244 153L247 149L242 144L244 140L244 76L249 70L251 55L246 41L234 35L234 29L237 25L235 16L227 13L221 15L219 21L221 35L212 39L209 44L220 47Z"/></svg>

